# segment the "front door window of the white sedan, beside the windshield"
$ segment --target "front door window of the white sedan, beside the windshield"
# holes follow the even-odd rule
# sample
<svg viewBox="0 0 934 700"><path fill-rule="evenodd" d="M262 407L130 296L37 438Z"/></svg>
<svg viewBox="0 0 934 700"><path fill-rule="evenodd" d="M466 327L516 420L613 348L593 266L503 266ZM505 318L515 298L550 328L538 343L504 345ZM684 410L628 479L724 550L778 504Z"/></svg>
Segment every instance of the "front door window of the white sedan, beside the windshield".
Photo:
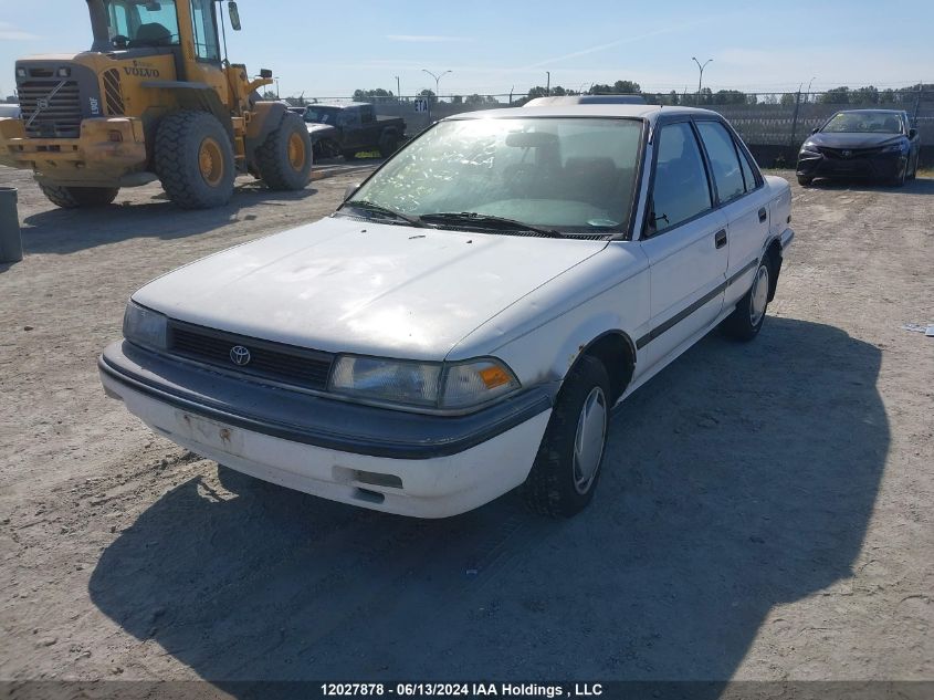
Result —
<svg viewBox="0 0 934 700"><path fill-rule="evenodd" d="M650 232L678 226L711 208L711 191L694 132L686 122L663 126L658 136Z"/></svg>

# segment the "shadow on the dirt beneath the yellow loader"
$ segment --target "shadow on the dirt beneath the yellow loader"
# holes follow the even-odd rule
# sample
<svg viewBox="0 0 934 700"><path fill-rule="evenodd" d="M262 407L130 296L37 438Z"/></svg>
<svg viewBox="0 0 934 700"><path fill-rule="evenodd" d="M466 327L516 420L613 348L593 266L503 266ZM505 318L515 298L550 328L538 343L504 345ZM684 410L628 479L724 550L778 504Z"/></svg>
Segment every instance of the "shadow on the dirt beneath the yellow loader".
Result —
<svg viewBox="0 0 934 700"><path fill-rule="evenodd" d="M273 191L253 182L238 185L233 198L224 207L186 211L155 195L146 203L109 205L82 209L51 208L23 219L23 251L27 254L69 254L135 238L158 237L164 240L187 238L217 229L231 221L258 218L250 208L256 205L287 207L317 194L308 187L300 191ZM81 231L75 231L75 217L81 217Z"/></svg>

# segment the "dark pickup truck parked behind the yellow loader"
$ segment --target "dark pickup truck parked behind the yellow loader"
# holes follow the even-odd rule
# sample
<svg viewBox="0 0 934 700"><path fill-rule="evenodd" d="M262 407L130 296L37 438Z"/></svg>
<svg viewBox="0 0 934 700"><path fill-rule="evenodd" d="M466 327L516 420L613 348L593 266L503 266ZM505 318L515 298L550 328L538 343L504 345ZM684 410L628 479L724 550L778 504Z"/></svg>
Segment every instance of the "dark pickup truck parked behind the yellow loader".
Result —
<svg viewBox="0 0 934 700"><path fill-rule="evenodd" d="M360 102L308 105L304 118L319 158L343 154L349 159L361 150L379 150L388 158L406 133L403 119L378 116L371 104Z"/></svg>

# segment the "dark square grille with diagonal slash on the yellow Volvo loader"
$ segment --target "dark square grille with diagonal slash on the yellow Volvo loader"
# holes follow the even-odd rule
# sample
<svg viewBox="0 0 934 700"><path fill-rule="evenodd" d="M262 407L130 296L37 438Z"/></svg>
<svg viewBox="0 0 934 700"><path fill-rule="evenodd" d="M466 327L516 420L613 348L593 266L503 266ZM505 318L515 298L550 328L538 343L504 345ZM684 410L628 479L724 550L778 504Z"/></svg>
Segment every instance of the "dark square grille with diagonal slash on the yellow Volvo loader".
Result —
<svg viewBox="0 0 934 700"><path fill-rule="evenodd" d="M27 136L30 138L77 138L81 136L81 93L76 81L32 80L20 83L17 90Z"/></svg>

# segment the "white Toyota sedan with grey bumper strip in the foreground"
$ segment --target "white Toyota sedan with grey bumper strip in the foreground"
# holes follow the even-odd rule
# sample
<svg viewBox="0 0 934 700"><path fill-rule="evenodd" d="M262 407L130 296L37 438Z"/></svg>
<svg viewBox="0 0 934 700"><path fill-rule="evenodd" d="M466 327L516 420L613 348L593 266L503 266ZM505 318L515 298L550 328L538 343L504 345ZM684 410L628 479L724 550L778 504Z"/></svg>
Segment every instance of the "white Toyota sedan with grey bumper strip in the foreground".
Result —
<svg viewBox="0 0 934 700"><path fill-rule="evenodd" d="M717 114L556 104L444 119L321 221L136 292L108 395L285 487L442 518L590 501L609 415L721 325L748 341L790 190Z"/></svg>

